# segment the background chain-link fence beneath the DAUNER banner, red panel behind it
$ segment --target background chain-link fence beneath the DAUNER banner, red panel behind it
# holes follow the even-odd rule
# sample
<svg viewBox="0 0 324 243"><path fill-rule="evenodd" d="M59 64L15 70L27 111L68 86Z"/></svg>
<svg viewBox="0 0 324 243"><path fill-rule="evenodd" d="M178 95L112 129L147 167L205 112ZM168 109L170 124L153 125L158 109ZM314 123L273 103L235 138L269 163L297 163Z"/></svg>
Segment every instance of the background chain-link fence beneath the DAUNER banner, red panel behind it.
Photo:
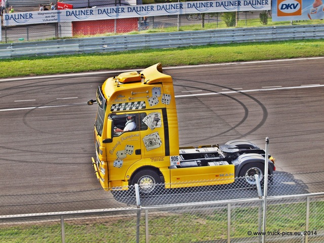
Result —
<svg viewBox="0 0 324 243"><path fill-rule="evenodd" d="M25 9L25 8L23 8ZM235 14L235 13L234 13ZM216 29L226 27L265 26L258 13L239 13L238 20L227 18L228 13L153 16L147 18L98 20L85 25L83 21L72 23L46 23L11 25L2 27L3 42L39 41L62 37L85 37L116 33L155 32ZM92 21L94 22L94 21ZM309 22L309 21L308 21ZM307 21L305 22L307 23ZM204 25L204 27L201 27Z"/></svg>

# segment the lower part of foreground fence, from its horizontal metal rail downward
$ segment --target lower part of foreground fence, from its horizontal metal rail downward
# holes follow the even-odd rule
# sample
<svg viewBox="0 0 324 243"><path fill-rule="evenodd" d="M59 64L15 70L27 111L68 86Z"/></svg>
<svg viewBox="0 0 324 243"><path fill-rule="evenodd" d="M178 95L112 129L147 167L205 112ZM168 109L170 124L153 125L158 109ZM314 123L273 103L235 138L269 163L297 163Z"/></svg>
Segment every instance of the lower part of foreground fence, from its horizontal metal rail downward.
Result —
<svg viewBox="0 0 324 243"><path fill-rule="evenodd" d="M26 243L261 242L263 232L266 242L322 242L324 193L267 200L264 231L262 198L0 216L0 231L4 242Z"/></svg>

